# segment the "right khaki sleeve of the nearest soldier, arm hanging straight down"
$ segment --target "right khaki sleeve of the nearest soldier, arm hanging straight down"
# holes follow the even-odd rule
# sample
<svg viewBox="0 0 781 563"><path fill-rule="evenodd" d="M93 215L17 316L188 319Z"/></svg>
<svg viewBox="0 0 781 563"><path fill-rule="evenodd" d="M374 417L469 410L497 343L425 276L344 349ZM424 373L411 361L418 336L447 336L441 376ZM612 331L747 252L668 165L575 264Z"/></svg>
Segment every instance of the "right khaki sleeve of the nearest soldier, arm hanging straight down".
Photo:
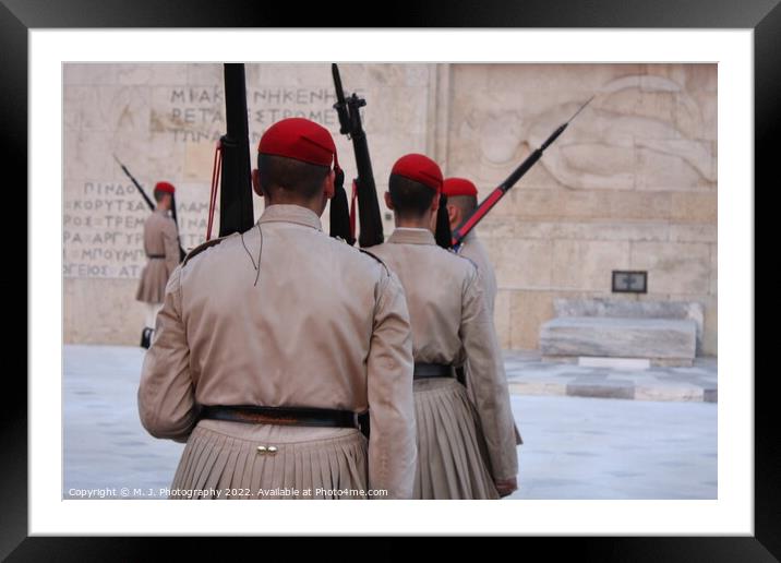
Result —
<svg viewBox="0 0 781 563"><path fill-rule="evenodd" d="M418 457L412 405L412 333L407 299L396 275L383 269L377 290L367 360L371 428L369 486L387 490L387 499L409 499Z"/></svg>

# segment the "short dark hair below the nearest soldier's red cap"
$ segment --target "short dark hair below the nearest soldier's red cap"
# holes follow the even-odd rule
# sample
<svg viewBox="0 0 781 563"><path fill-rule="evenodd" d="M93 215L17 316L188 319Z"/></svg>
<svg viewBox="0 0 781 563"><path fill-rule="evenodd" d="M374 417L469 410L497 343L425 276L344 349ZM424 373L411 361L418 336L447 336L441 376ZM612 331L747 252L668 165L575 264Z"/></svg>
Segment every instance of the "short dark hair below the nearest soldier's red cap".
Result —
<svg viewBox="0 0 781 563"><path fill-rule="evenodd" d="M321 192L331 168L284 156L259 154L257 171L265 193L284 190L311 200Z"/></svg>

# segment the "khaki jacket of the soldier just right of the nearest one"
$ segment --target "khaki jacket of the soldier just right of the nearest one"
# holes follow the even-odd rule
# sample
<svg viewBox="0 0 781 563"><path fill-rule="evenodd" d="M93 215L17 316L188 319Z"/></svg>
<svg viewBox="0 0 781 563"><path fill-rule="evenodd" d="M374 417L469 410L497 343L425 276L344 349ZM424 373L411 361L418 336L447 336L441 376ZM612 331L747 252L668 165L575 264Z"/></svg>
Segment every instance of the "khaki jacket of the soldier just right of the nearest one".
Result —
<svg viewBox="0 0 781 563"><path fill-rule="evenodd" d="M405 287L414 361L466 362L492 476L494 480L515 477L518 458L507 381L477 267L437 247L425 229L396 229L371 252Z"/></svg>

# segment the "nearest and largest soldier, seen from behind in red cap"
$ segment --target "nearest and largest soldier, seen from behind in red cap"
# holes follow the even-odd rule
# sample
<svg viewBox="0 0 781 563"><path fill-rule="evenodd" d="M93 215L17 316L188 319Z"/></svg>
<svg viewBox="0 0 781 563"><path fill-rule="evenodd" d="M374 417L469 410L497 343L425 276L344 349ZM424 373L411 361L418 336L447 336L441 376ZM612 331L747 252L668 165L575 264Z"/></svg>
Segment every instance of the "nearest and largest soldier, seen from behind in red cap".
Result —
<svg viewBox="0 0 781 563"><path fill-rule="evenodd" d="M171 496L409 498L412 343L404 290L377 259L325 235L336 146L305 119L271 127L243 233L175 271L144 360L139 410L187 441ZM357 428L369 408L371 439Z"/></svg>

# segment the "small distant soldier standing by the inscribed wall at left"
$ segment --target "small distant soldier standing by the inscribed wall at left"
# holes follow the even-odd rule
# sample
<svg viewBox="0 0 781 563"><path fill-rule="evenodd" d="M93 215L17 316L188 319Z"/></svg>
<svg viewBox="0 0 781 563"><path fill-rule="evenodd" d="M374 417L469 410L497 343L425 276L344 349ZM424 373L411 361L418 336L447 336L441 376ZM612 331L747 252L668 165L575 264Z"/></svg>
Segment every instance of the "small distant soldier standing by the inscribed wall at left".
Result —
<svg viewBox="0 0 781 563"><path fill-rule="evenodd" d="M169 182L157 182L154 196L155 212L144 221L144 252L147 263L141 273L135 294L137 301L146 306L146 326L141 333L141 346L149 347L155 318L163 307L166 284L179 264L179 233L177 224L169 216L173 206L176 189Z"/></svg>

